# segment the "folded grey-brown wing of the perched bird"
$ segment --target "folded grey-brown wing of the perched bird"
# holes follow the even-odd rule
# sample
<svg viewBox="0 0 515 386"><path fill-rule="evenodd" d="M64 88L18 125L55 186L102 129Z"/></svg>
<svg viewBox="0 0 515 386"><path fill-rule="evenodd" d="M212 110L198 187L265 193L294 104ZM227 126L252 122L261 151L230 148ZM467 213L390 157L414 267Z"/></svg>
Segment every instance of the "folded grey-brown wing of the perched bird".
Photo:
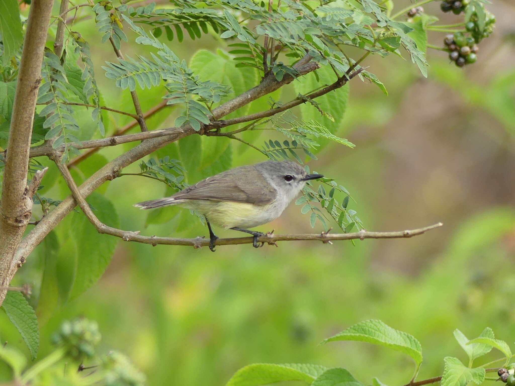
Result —
<svg viewBox="0 0 515 386"><path fill-rule="evenodd" d="M228 172L199 181L171 197L177 200L233 201L257 205L269 204L275 199L275 189L261 177L261 173L257 177L252 177L254 173L238 173L234 178Z"/></svg>

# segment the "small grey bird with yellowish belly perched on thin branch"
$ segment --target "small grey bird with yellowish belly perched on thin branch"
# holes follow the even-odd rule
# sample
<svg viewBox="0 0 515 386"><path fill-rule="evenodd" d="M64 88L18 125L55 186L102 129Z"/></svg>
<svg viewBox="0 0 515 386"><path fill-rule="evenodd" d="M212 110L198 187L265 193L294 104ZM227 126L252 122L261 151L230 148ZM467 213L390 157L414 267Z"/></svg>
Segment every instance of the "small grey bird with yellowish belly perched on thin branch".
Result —
<svg viewBox="0 0 515 386"><path fill-rule="evenodd" d="M266 224L281 216L306 181L321 177L321 174L307 174L302 166L291 161L265 161L229 169L171 197L134 206L152 209L180 205L197 210L208 223L209 249L213 252L218 237L213 233L211 223L251 234L254 236L252 245L258 248L258 237L264 233L247 228Z"/></svg>

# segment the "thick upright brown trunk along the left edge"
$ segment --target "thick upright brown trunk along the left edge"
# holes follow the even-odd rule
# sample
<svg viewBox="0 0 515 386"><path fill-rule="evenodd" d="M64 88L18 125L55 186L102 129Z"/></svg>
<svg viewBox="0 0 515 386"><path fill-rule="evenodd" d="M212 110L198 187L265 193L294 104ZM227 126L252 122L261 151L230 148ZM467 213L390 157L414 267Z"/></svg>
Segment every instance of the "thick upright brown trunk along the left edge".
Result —
<svg viewBox="0 0 515 386"><path fill-rule="evenodd" d="M53 0L32 3L23 42L0 201L0 286L3 287L9 285L16 270L13 255L31 216L32 196L27 187L30 137L53 3ZM0 290L0 304L5 294L6 290Z"/></svg>

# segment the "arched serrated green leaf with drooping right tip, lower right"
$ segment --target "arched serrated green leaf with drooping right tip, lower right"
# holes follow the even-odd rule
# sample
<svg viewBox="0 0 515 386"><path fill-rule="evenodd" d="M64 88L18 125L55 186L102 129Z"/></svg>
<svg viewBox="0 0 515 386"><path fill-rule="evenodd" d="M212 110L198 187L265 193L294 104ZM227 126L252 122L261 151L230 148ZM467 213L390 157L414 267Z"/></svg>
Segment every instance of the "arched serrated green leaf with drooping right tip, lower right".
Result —
<svg viewBox="0 0 515 386"><path fill-rule="evenodd" d="M322 343L338 340L379 344L409 355L417 365L422 362L422 347L419 341L406 332L391 328L380 320L371 319L357 323L339 334L325 339Z"/></svg>

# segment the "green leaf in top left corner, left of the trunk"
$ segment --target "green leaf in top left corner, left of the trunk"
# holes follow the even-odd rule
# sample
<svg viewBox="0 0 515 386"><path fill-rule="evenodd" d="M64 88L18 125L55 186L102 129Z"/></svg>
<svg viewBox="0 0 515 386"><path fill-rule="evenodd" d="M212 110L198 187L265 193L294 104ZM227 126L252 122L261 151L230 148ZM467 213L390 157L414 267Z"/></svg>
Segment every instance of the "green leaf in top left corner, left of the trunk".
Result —
<svg viewBox="0 0 515 386"><path fill-rule="evenodd" d="M4 44L2 63L5 66L23 43L20 8L16 0L0 2L0 34Z"/></svg>

